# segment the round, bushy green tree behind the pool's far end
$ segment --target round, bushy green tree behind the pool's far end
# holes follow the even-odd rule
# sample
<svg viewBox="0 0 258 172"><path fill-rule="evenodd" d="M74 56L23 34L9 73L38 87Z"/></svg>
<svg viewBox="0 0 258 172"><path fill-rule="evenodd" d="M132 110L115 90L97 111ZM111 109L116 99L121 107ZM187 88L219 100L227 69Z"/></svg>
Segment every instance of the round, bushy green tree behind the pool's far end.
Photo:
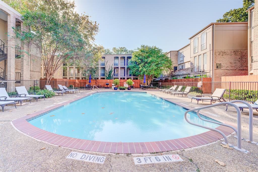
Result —
<svg viewBox="0 0 258 172"><path fill-rule="evenodd" d="M141 45L133 52L128 67L132 75L146 75L147 83L172 68L171 59L156 46Z"/></svg>

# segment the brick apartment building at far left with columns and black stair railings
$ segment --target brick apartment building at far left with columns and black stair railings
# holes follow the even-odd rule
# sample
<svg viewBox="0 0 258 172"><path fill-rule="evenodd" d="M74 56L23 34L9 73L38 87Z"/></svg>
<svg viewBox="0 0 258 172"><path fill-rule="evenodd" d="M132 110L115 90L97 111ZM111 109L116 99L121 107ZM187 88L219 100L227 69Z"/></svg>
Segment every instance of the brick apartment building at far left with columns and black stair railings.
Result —
<svg viewBox="0 0 258 172"><path fill-rule="evenodd" d="M0 1L0 79L39 79L41 58L35 46L21 44L15 39L13 28L17 27L21 31L27 29L23 26L21 14Z"/></svg>

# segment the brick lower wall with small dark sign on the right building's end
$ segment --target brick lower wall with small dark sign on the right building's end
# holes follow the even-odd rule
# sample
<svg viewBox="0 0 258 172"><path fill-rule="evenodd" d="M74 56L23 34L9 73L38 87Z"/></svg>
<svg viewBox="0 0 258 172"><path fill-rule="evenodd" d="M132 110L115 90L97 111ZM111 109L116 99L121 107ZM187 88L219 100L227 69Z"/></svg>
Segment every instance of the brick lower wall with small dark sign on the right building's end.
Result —
<svg viewBox="0 0 258 172"><path fill-rule="evenodd" d="M247 50L215 50L214 81L221 81L222 76L248 75ZM221 63L221 69L216 64Z"/></svg>

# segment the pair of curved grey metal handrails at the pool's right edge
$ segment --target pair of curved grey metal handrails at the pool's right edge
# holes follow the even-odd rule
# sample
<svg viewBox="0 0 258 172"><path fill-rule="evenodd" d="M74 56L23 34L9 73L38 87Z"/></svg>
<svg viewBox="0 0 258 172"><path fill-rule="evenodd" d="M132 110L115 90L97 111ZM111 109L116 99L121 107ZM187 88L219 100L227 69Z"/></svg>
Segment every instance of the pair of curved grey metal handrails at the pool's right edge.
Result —
<svg viewBox="0 0 258 172"><path fill-rule="evenodd" d="M215 132L220 133L224 137L224 140L225 140L224 142L221 142L222 144L224 144L224 145L228 144L229 146L235 148L236 150L239 150L241 152L247 152L245 149L242 148L242 144L241 144L241 140L243 139L241 137L241 111L237 107L237 105L234 104L235 102L244 103L248 106L248 108L249 108L249 140L245 140L245 141L247 141L249 143L257 144L256 142L253 141L253 108L249 103L247 103L243 100L234 100L234 101L231 101L231 102L221 102L221 103L216 103L216 104L212 104L212 105L207 105L207 106L204 106L204 107L201 107L201 108L191 109L191 110L188 110L184 113L184 118L186 119L186 121L189 124L192 124L192 125L195 125L195 126L198 126L198 127L202 127L202 128L206 128L206 129L209 129L209 130L213 130ZM216 107L216 106L220 106L220 105L226 105L226 104L233 106L237 110L237 129L235 127L231 126L231 125L228 125L228 124L223 124L223 123L220 123L220 122L211 121L211 120L207 120L207 119L204 119L204 118L200 117L199 111L201 109L207 109L207 108L212 108L212 107ZM236 136L234 136L234 137L237 138L237 146L233 146L232 144L229 144L227 136L223 132L221 132L220 130L190 122L187 119L187 113L192 112L192 111L197 111L197 116L203 121L207 121L207 122L211 122L211 123L214 123L214 124L223 125L223 126L232 128L237 134Z"/></svg>

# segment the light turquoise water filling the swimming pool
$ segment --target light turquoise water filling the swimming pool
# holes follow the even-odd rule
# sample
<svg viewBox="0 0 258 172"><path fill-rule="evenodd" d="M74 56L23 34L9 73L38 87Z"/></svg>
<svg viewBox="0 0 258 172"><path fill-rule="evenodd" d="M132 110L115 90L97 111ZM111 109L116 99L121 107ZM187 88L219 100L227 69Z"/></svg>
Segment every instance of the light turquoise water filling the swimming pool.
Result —
<svg viewBox="0 0 258 172"><path fill-rule="evenodd" d="M184 119L182 107L148 93L103 92L29 121L63 136L105 142L149 142L188 137L208 131ZM216 128L188 113L192 122Z"/></svg>

